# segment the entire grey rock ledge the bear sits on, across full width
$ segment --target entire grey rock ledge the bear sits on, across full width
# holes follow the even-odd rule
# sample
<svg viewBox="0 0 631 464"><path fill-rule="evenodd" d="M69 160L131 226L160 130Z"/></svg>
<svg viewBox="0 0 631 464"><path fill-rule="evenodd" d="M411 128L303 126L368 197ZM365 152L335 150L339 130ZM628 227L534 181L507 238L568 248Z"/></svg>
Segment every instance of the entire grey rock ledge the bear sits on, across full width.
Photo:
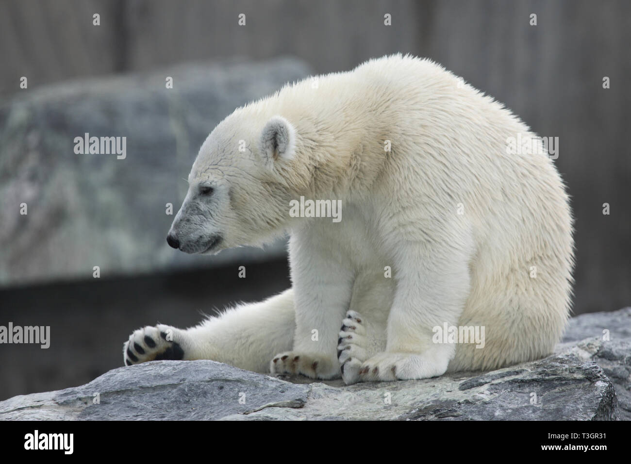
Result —
<svg viewBox="0 0 631 464"><path fill-rule="evenodd" d="M612 321L628 327L630 309L578 316L570 337ZM0 402L0 420L628 420L631 339L565 342L538 361L420 381L289 380L299 383L210 360L156 361L15 396Z"/></svg>

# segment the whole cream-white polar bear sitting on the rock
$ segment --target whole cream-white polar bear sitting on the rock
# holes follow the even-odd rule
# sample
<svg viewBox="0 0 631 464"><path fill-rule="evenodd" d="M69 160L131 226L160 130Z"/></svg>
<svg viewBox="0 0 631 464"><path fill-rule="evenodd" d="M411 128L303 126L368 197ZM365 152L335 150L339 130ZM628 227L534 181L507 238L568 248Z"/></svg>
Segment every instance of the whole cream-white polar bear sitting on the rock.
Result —
<svg viewBox="0 0 631 464"><path fill-rule="evenodd" d="M351 384L539 359L562 336L562 179L518 117L428 59L373 59L235 110L188 181L168 244L215 254L289 232L292 288L187 330L136 330L127 365L212 359ZM339 201L341 220L290 215L300 198Z"/></svg>

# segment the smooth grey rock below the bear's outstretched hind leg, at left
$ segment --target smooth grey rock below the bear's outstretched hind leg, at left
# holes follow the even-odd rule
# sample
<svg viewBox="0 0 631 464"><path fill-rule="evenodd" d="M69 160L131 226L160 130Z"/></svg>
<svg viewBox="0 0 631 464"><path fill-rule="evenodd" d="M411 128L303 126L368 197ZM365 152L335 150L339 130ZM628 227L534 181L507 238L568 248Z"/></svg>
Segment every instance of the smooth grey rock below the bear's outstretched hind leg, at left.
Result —
<svg viewBox="0 0 631 464"><path fill-rule="evenodd" d="M155 361L113 369L80 387L15 396L0 403L0 419L212 420L302 407L308 393L307 385L220 362Z"/></svg>

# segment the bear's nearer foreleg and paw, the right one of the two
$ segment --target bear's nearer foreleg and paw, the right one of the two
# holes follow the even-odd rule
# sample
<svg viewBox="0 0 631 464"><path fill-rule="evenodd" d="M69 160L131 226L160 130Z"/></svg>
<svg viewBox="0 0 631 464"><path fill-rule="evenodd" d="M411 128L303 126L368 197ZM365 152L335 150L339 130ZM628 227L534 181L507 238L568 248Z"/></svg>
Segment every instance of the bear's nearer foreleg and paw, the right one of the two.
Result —
<svg viewBox="0 0 631 464"><path fill-rule="evenodd" d="M454 343L433 343L432 329L458 323L469 295L469 251L406 246L397 269L386 350L362 363L357 381L440 376L456 354ZM345 378L346 383L353 380Z"/></svg>

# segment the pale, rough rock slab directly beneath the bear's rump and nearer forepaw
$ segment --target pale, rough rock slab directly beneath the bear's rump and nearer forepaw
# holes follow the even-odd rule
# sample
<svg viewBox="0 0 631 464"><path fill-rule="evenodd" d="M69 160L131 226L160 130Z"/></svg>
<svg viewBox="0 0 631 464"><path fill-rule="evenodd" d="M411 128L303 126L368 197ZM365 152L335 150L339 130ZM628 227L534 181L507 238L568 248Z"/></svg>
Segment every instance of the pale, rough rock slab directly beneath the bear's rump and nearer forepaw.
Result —
<svg viewBox="0 0 631 464"><path fill-rule="evenodd" d="M534 395L536 396L534 396ZM536 398L536 403L531 399ZM391 400L387 403L386 399ZM618 420L603 371L575 354L478 376L333 387L311 384L302 408L269 407L227 420Z"/></svg>

